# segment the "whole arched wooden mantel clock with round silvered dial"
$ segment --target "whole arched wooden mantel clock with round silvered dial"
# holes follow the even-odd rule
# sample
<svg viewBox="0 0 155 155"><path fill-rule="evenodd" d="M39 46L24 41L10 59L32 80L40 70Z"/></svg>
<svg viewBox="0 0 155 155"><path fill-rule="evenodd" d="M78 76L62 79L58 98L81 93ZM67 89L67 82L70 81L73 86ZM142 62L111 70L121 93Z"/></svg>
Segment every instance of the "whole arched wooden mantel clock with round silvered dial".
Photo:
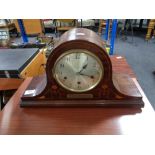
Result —
<svg viewBox="0 0 155 155"><path fill-rule="evenodd" d="M46 74L32 79L21 107L143 107L128 75L114 74L105 43L93 31L65 32L51 52Z"/></svg>

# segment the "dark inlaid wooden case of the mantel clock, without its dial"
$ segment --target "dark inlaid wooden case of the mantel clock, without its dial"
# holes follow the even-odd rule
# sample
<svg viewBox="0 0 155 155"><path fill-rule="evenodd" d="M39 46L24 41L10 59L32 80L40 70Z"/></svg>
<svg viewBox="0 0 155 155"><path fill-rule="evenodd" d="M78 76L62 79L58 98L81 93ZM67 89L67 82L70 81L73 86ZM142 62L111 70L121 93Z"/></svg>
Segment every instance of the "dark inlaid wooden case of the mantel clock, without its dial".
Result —
<svg viewBox="0 0 155 155"><path fill-rule="evenodd" d="M104 76L99 84L86 92L72 92L61 87L52 74L56 60L71 49L85 49L102 62ZM127 75L114 75L105 44L93 31L74 28L64 33L46 64L46 74L33 78L22 96L21 107L28 106L103 106L143 107L142 96Z"/></svg>

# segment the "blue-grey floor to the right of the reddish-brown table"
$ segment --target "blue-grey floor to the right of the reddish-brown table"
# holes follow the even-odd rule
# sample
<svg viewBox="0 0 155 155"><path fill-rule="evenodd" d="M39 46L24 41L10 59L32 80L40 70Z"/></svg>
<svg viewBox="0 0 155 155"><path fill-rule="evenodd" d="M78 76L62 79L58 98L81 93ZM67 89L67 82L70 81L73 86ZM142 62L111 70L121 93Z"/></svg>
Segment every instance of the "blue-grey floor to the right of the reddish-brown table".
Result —
<svg viewBox="0 0 155 155"><path fill-rule="evenodd" d="M146 42L144 35L127 37L126 41L117 38L115 41L114 54L125 56L132 66L137 79L155 109L155 40Z"/></svg>

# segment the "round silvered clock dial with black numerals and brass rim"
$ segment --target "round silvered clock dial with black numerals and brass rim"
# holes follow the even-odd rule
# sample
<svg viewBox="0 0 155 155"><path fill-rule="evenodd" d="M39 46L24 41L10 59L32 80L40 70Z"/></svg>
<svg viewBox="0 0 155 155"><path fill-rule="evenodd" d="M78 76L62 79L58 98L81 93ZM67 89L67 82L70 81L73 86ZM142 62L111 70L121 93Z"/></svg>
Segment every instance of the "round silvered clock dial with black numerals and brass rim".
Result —
<svg viewBox="0 0 155 155"><path fill-rule="evenodd" d="M101 81L103 66L100 59L89 51L72 49L57 59L53 74L63 88L86 92Z"/></svg>

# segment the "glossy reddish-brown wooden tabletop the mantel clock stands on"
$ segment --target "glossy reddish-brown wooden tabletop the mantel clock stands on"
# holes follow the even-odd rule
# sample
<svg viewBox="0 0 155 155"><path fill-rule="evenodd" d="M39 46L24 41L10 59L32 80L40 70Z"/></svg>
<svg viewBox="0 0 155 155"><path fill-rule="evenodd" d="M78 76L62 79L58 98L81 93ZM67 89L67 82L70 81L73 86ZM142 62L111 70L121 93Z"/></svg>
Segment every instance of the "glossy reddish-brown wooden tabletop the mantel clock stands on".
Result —
<svg viewBox="0 0 155 155"><path fill-rule="evenodd" d="M27 78L0 113L0 134L153 135L154 110L125 59L118 58L111 59L113 70L132 75L144 108L20 108L20 97L32 80Z"/></svg>

